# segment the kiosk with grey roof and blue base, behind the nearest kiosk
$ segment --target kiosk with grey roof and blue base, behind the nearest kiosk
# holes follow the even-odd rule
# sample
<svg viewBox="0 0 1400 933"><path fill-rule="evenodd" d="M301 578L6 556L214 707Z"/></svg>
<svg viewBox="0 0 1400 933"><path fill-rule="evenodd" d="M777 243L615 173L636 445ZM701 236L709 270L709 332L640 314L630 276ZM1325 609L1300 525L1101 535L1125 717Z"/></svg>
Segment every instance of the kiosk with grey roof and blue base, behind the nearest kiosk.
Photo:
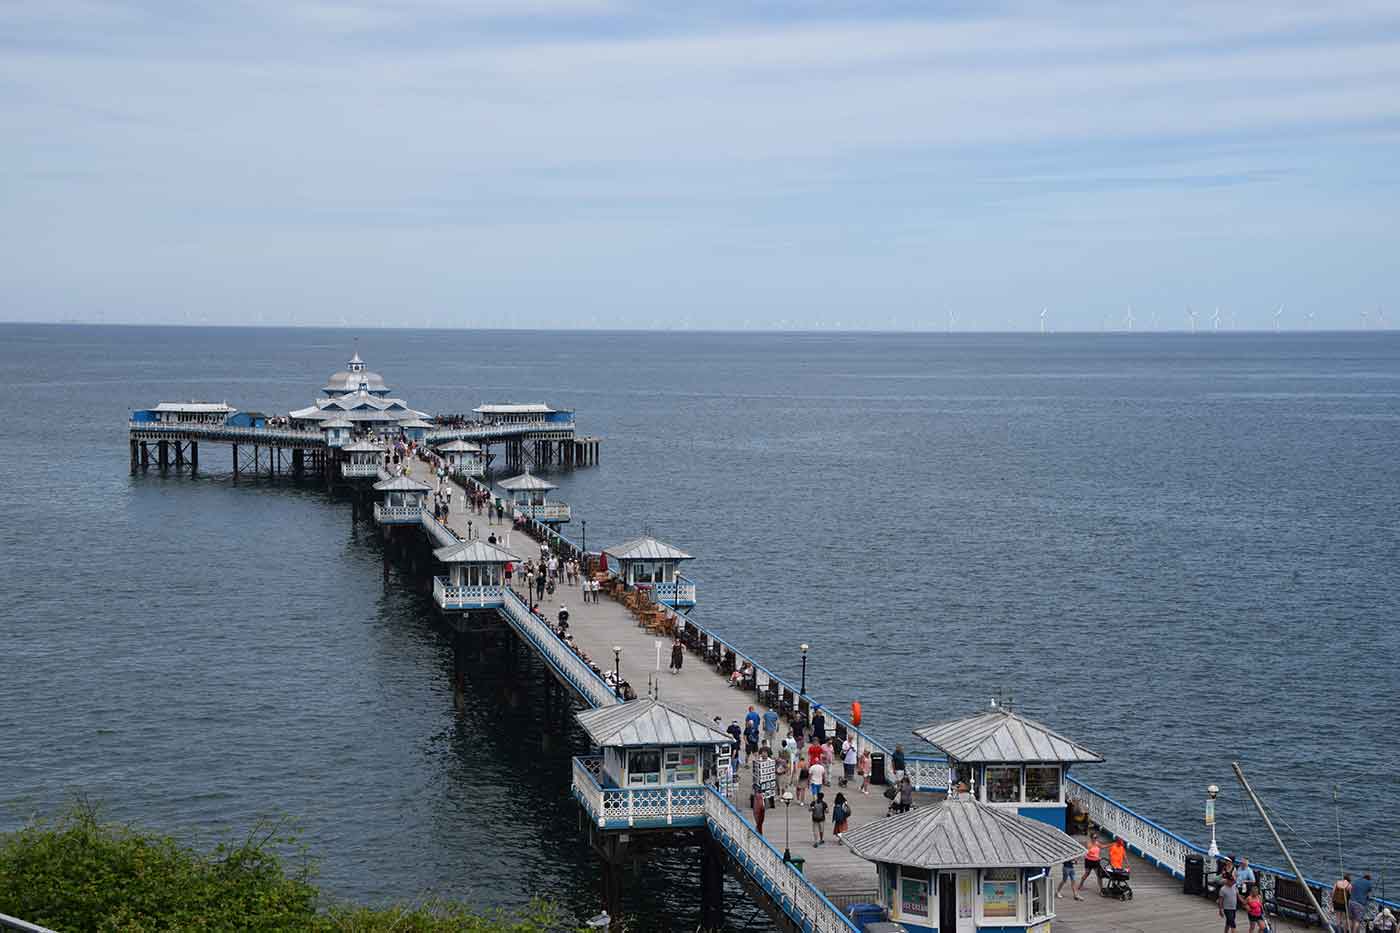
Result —
<svg viewBox="0 0 1400 933"><path fill-rule="evenodd" d="M948 786L966 783L993 807L1065 828L1064 778L1079 762L1102 762L1049 726L1005 706L916 728L914 734L948 756Z"/></svg>

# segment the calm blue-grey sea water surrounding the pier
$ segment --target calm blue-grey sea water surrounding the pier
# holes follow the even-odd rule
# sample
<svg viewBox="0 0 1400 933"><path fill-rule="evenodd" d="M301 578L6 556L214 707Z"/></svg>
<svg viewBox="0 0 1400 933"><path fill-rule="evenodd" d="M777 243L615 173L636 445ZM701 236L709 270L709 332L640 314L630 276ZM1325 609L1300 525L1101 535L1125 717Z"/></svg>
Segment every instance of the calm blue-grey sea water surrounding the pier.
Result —
<svg viewBox="0 0 1400 933"><path fill-rule="evenodd" d="M592 909L577 734L550 737L498 656L454 651L349 504L234 485L218 447L195 479L127 475L130 408L286 412L353 336L0 326L0 828L73 792L204 842L287 814L344 898ZM602 464L556 481L589 546L650 530L697 555L707 625L791 677L811 643L813 692L885 738L1011 693L1107 756L1085 780L1184 835L1218 783L1222 846L1277 863L1239 759L1310 871L1337 870L1340 818L1347 867L1400 894L1400 336L358 350L427 410L577 408ZM693 925L690 862L648 866L664 884L630 884L634 908Z"/></svg>

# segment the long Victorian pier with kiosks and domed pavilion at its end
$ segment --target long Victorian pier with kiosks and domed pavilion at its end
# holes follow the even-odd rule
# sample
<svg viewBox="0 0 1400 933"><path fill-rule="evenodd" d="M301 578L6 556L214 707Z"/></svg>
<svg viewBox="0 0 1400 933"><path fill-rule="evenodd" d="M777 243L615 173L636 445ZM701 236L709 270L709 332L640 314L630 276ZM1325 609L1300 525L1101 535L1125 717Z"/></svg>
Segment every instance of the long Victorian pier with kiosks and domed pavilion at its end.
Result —
<svg viewBox="0 0 1400 933"><path fill-rule="evenodd" d="M1074 752L1057 745L1053 752L1011 763L998 759L1002 763L994 766L948 745L934 727L920 734L944 742L937 748L913 735L899 737L907 749L914 814L965 807L981 815L1011 814L1009 822L1002 820L1011 832L1033 832L1035 825L1049 824L1043 831L1061 841L1067 836L1060 829L1075 838L1092 829L1121 839L1131 853L1131 899L1099 897L1092 883L1082 901L1057 899L1057 863L1044 863L1039 874L1035 864L1016 863L1011 876L993 869L991 860L986 869L899 869L885 862L876 867L853 850L860 848L854 842L848 848L832 841L830 820L827 842L816 848L808 811L784 793L791 785L781 776L776 787L764 778L773 803L760 832L750 807L755 772L748 762L731 769L731 749L722 738L727 726L742 723L749 707L759 714L776 712L780 737L792 717L809 717L820 709L829 734L850 737L882 759L885 770L892 766L895 742L854 721L851 698L813 698L805 684L778 677L742 646L706 628L703 616L692 612L703 604L703 587L682 573L692 560L703 566L704 555L652 538L585 551L567 537L563 527L574 517L571 510L547 499L554 485L531 471L598 462L598 440L575 436L574 413L543 403L503 403L479 406L472 417L428 416L391 398L382 380L364 371L358 356L323 391L326 398L284 419L246 415L239 420L232 408L207 402L161 403L136 412L129 423L132 469L148 468L154 448L162 471L186 464L196 471L199 444L221 443L232 448L235 476L323 476L328 486L370 506L364 511L389 544L386 559L396 555L407 565L454 628L510 632L533 651L563 685L571 700L567 709L582 713L580 723L598 745L595 754L573 758L570 790L578 801L581 836L598 855L603 901L615 919L622 919L617 905L626 867L644 862L657 848L687 846L703 852L697 894L706 930L724 922L724 873L738 878L784 930L860 930L850 916L853 905L882 901L897 906L896 919L909 929L941 933L1047 933L1051 925L1070 933L1219 929L1214 901L1184 892L1191 873L1198 887L1210 884L1201 869L1203 860L1210 864L1207 850L1071 775L1075 762L1102 761L1082 748ZM501 471L491 466L493 444L503 445L508 478L494 479ZM402 452L405 445L414 454ZM444 488L452 493L445 510L433 502ZM469 502L480 496L489 506L475 511ZM521 563L539 559L542 544L561 558L580 559L588 572L585 581L599 587L596 598L585 601L578 586L563 584L536 598L525 593ZM564 607L567 633L557 626ZM682 670L671 674L676 640L685 660ZM930 717L969 712L930 710ZM633 728L629 717L643 714ZM1011 712L1002 714L1021 721ZM1049 730L1046 734L1063 740ZM1072 745L1068 740L1063 744ZM619 782L619 769L630 778ZM839 790L840 769L837 761L829 796ZM675 775L683 780L672 780ZM1033 776L1040 782L1036 794L1029 787ZM1014 785L1008 785L1009 796L997 783L1002 779ZM956 787L969 780L972 790ZM952 793L949 785L955 785ZM869 796L858 792L858 780L840 790L851 804L853 832L886 820L883 780L872 785ZM1330 909L1329 883L1299 880L1267 866L1254 869L1275 930L1308 927L1305 888L1315 890L1324 911ZM1242 912L1242 929L1246 923Z"/></svg>

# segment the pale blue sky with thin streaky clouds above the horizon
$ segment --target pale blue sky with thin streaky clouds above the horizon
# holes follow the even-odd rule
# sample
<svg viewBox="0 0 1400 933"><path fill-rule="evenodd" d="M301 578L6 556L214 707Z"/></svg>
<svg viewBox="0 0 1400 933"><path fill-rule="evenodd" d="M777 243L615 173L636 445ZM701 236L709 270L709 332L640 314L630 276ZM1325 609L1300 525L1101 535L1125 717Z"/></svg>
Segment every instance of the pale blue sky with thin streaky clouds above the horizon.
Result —
<svg viewBox="0 0 1400 933"><path fill-rule="evenodd" d="M1390 328L1397 182L1400 0L0 0L0 321Z"/></svg>

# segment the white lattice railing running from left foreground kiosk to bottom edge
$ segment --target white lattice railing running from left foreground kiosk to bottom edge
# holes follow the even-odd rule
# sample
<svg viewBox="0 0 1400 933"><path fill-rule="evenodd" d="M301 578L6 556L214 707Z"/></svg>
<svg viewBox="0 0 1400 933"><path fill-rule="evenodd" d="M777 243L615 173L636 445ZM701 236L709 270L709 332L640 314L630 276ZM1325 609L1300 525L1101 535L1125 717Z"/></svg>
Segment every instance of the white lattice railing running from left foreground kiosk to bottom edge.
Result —
<svg viewBox="0 0 1400 933"><path fill-rule="evenodd" d="M827 899L801 871L745 821L728 800L706 787L706 827L773 902L797 922L798 929L813 933L851 933L858 927Z"/></svg>

